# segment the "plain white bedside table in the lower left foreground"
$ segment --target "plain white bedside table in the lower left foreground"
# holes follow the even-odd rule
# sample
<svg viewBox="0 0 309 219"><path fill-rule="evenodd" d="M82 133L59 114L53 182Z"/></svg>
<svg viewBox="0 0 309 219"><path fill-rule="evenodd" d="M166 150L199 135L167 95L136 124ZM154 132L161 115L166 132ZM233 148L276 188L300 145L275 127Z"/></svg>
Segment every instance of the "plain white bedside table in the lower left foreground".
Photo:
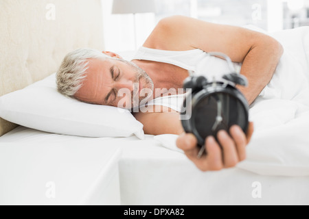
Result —
<svg viewBox="0 0 309 219"><path fill-rule="evenodd" d="M120 205L121 149L100 142L0 144L0 205Z"/></svg>

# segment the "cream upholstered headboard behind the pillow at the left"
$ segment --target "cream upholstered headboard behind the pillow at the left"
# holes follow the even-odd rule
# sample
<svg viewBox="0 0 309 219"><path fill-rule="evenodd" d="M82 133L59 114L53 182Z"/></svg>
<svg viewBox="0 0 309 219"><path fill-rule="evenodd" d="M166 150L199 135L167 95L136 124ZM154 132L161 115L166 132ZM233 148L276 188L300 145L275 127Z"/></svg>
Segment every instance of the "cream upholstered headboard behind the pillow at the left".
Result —
<svg viewBox="0 0 309 219"><path fill-rule="evenodd" d="M0 96L55 73L69 51L103 50L101 0L1 0ZM0 136L17 125L0 118Z"/></svg>

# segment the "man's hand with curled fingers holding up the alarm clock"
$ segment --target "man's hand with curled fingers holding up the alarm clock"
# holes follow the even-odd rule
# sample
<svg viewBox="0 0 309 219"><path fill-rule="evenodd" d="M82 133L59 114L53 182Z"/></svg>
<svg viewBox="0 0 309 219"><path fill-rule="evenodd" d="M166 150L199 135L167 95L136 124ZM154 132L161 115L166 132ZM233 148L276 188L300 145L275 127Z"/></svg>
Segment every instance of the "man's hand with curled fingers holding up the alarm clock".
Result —
<svg viewBox="0 0 309 219"><path fill-rule="evenodd" d="M238 125L233 125L229 133L223 130L218 132L217 138L222 149L213 136L207 137L205 140L207 155L204 154L201 158L198 158L200 149L192 133L182 133L177 138L176 145L202 171L231 168L246 158L246 146L253 134L253 123L249 123L247 135Z"/></svg>

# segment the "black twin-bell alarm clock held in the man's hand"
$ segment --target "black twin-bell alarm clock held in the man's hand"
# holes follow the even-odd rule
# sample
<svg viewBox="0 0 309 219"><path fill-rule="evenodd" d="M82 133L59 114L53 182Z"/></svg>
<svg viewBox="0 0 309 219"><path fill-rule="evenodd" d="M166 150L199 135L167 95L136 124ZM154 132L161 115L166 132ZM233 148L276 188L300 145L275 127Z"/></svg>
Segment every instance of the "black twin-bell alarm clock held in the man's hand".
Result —
<svg viewBox="0 0 309 219"><path fill-rule="evenodd" d="M201 147L198 157L205 151L207 136L216 138L221 129L229 133L229 128L233 125L239 125L246 133L249 126L249 103L236 88L238 84L247 86L247 78L236 73L227 55L208 54L225 57L231 72L224 75L222 81L208 81L204 76L190 76L183 82L183 88L190 88L191 93L190 98L184 100L181 123L185 132L196 136L198 146Z"/></svg>

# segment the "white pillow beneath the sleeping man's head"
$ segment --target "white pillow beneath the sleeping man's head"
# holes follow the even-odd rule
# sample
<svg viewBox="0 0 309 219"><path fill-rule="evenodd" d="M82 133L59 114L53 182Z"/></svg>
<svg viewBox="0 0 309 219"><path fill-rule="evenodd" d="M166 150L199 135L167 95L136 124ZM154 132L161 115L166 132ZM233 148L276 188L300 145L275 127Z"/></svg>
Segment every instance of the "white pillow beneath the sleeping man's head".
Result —
<svg viewBox="0 0 309 219"><path fill-rule="evenodd" d="M56 90L56 73L0 97L0 117L32 129L83 137L144 139L143 125L128 111L69 99Z"/></svg>

